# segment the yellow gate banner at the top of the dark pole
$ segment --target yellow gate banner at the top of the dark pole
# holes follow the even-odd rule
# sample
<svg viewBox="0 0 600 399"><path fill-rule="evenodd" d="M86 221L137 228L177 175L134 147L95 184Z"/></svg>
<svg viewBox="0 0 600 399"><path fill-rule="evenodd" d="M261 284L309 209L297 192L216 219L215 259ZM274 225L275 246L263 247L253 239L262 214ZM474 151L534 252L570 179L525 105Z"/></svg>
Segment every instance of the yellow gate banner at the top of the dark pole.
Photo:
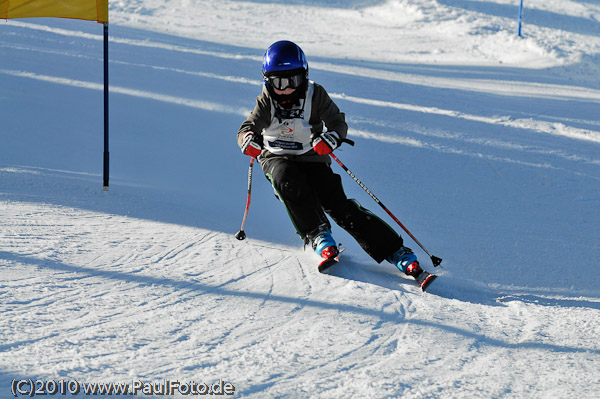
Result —
<svg viewBox="0 0 600 399"><path fill-rule="evenodd" d="M73 18L108 22L108 0L0 0L0 19Z"/></svg>

